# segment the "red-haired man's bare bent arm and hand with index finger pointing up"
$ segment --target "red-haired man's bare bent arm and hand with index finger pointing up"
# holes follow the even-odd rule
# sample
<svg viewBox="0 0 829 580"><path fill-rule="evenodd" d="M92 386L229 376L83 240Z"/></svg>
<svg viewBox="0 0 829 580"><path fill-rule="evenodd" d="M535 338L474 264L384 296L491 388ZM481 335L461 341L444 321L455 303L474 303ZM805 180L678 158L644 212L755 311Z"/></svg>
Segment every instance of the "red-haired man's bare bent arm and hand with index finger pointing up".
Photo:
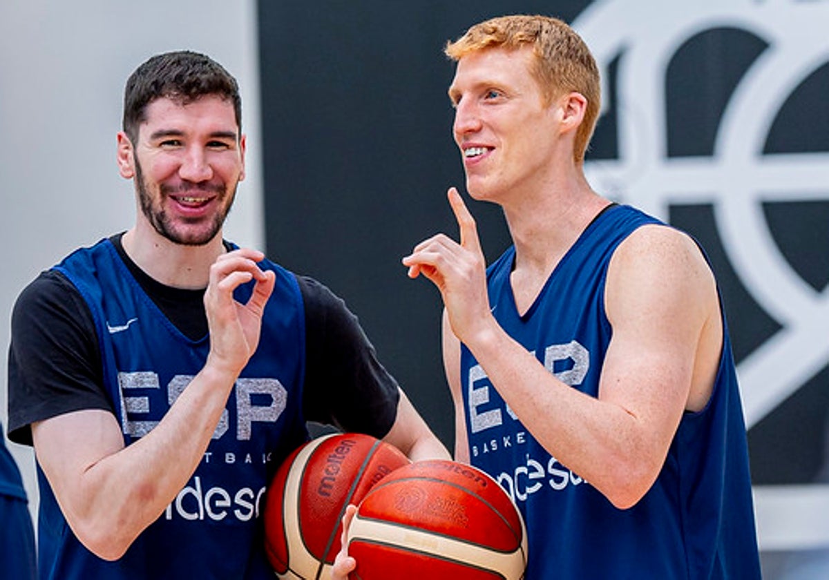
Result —
<svg viewBox="0 0 829 580"><path fill-rule="evenodd" d="M701 254L662 227L642 228L618 249L606 290L613 339L593 398L556 379L497 324L474 220L457 192L450 202L461 244L443 235L419 244L404 260L410 276L424 273L439 288L453 333L533 436L614 505L634 505L657 477L691 395L710 392L712 360L703 365L697 354L721 332L710 322L719 306Z"/></svg>

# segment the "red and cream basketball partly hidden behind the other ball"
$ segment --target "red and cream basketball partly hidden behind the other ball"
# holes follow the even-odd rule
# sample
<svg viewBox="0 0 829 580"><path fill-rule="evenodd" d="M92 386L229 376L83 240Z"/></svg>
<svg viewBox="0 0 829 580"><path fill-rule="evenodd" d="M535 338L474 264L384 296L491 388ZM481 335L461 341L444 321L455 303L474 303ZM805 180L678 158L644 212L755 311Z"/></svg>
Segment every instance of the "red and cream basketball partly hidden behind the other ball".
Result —
<svg viewBox="0 0 829 580"><path fill-rule="evenodd" d="M333 433L298 447L265 498L265 551L277 577L328 578L346 506L408 464L396 447L361 433Z"/></svg>

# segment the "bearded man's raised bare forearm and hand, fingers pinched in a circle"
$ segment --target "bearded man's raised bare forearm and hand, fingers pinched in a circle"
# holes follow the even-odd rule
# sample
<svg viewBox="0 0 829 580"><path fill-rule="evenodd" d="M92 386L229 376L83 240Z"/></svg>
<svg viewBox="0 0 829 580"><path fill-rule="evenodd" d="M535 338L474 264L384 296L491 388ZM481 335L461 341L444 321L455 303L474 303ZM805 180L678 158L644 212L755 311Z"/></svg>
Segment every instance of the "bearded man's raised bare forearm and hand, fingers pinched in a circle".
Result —
<svg viewBox="0 0 829 580"><path fill-rule="evenodd" d="M117 559L175 498L196 470L210 443L236 377L259 344L264 305L274 274L241 249L211 267L205 307L211 331L206 365L156 428L124 447L111 413L84 410L32 425L38 462L55 491L67 522L90 551ZM251 279L250 301L233 291Z"/></svg>

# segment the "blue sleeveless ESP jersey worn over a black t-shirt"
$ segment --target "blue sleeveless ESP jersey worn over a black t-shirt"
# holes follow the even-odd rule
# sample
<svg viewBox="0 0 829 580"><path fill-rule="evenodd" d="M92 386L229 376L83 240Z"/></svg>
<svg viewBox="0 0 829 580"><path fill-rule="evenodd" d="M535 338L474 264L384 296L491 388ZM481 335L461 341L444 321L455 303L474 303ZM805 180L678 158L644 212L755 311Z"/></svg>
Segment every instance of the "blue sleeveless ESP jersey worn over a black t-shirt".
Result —
<svg viewBox="0 0 829 580"><path fill-rule="evenodd" d="M305 329L293 274L264 261L276 287L259 348L230 393L210 446L190 481L123 558L106 562L75 538L39 471L41 578L273 578L264 554L268 478L308 438L302 415ZM143 292L109 240L56 268L95 320L104 386L129 445L162 419L204 366L208 336L182 335ZM253 283L236 291L246 302ZM138 498L136 498L138 501Z"/></svg>

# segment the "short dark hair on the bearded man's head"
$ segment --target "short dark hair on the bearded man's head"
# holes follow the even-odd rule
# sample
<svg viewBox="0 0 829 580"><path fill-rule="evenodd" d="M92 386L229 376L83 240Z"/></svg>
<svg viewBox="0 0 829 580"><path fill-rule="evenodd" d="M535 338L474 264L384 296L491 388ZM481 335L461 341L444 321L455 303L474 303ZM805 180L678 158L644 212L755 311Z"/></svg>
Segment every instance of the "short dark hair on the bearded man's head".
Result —
<svg viewBox="0 0 829 580"><path fill-rule="evenodd" d="M213 94L233 104L236 124L241 132L239 85L222 65L209 56L192 51L153 56L139 65L127 80L124 88L124 133L135 143L138 125L147 118L147 105L155 99L177 99L187 104Z"/></svg>

